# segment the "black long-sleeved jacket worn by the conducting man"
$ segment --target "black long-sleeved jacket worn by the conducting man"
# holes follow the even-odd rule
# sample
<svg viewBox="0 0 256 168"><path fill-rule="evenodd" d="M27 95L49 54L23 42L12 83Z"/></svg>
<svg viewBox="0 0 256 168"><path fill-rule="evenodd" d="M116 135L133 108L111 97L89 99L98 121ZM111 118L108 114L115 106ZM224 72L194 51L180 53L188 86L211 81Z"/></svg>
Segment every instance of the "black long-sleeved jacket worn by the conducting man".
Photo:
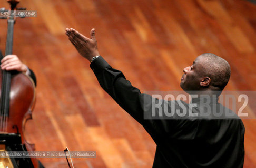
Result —
<svg viewBox="0 0 256 168"><path fill-rule="evenodd" d="M136 121L143 125L156 143L153 167L243 167L244 125L240 118L144 119L152 112L152 102L126 80L123 73L113 69L100 56L90 65L101 87ZM193 103L199 103L193 99ZM188 104L183 102L188 108ZM221 104L215 104L223 108ZM168 106L180 108L176 101ZM197 112L193 108L193 112ZM150 116L150 115L149 115Z"/></svg>

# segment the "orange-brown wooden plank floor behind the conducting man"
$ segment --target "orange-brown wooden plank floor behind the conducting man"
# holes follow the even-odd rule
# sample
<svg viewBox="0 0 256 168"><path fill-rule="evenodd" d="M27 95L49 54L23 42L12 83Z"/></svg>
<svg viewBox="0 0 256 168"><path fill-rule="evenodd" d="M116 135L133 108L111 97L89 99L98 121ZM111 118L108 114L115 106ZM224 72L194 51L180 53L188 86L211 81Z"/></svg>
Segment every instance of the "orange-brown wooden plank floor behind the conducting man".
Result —
<svg viewBox="0 0 256 168"><path fill-rule="evenodd" d="M86 36L95 28L100 54L141 92L181 90L183 68L202 53L229 61L225 90L256 89L256 5L248 1L21 0L18 7L37 12L17 18L14 29L13 53L37 77L26 137L36 151L96 151L94 159L73 159L76 168L152 167L156 145L103 91L65 28ZM0 30L4 51L6 20ZM243 122L244 167L256 167L256 120ZM65 158L40 161L46 168L67 167Z"/></svg>

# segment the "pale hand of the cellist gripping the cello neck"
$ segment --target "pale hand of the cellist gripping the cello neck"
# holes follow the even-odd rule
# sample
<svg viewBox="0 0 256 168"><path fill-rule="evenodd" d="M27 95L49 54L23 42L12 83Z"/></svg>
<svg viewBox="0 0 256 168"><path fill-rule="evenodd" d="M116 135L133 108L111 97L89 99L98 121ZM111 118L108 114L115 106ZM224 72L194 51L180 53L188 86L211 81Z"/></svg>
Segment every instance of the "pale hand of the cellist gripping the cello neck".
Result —
<svg viewBox="0 0 256 168"><path fill-rule="evenodd" d="M2 70L17 70L27 72L27 66L16 55L7 55L1 60Z"/></svg>

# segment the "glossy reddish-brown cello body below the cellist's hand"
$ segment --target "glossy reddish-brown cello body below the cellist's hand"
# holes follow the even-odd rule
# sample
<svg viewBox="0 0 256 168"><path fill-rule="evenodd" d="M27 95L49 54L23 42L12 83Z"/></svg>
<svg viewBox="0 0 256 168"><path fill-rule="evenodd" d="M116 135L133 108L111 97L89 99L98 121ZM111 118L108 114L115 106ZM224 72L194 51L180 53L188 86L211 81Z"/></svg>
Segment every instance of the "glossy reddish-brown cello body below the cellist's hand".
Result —
<svg viewBox="0 0 256 168"><path fill-rule="evenodd" d="M3 72L0 73L1 87ZM2 95L2 90L0 92ZM27 142L24 135L25 123L32 119L35 96L35 84L31 77L21 72L11 72L9 115L5 118L5 122L3 122L3 116L0 121L0 144L5 145L6 151L35 150L34 144ZM39 165L36 158L13 159L12 164L13 167L38 167Z"/></svg>

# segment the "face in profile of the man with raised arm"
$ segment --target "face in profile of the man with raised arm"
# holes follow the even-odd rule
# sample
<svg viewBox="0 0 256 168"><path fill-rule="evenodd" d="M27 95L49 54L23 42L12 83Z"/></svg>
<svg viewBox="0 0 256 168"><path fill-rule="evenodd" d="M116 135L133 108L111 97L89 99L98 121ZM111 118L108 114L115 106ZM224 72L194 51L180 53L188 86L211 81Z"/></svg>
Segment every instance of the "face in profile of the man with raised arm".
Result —
<svg viewBox="0 0 256 168"><path fill-rule="evenodd" d="M180 86L185 91L200 90L200 81L203 79L203 57L197 57L193 64L183 69Z"/></svg>

